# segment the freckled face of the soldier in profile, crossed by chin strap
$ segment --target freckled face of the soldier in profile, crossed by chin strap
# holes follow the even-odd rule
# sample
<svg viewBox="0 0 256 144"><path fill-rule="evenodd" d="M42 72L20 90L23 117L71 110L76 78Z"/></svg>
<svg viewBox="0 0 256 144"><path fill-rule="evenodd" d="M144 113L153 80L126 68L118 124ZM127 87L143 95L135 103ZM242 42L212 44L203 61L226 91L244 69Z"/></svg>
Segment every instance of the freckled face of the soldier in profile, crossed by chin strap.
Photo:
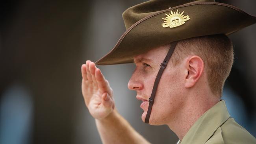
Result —
<svg viewBox="0 0 256 144"><path fill-rule="evenodd" d="M141 109L144 112L141 118L144 122L148 110L148 98L150 98L160 64L167 54L167 46L169 45L154 48L134 57L136 68L130 78L128 88L136 90L136 98L143 101ZM187 71L182 62L175 67L170 63L171 61L163 71L158 84L149 120L149 124L152 125L168 124L179 116L180 109L184 107L184 83Z"/></svg>

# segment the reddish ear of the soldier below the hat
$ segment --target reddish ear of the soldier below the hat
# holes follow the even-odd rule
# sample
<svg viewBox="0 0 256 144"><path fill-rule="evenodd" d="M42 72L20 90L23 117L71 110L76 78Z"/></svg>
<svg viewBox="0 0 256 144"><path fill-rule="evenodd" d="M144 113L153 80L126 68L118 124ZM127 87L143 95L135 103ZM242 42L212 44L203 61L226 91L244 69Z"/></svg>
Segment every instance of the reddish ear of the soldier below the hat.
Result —
<svg viewBox="0 0 256 144"><path fill-rule="evenodd" d="M204 61L201 59L201 57L193 55L187 59L186 69L187 76L185 87L190 88L193 87L197 83L198 79L202 76L204 70Z"/></svg>

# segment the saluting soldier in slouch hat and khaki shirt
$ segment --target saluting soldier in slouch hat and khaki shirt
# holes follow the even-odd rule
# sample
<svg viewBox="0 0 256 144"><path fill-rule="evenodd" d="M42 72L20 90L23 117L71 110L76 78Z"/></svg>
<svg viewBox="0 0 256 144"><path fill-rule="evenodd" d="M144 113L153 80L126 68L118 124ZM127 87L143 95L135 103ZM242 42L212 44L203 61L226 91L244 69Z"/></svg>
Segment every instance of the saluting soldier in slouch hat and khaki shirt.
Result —
<svg viewBox="0 0 256 144"><path fill-rule="evenodd" d="M214 0L150 0L122 16L126 32L96 64L135 63L128 88L142 101L145 123L168 125L179 144L256 144L221 100L234 59L226 35L256 23L255 16ZM82 78L103 143L149 143L117 112L95 63L82 65Z"/></svg>

